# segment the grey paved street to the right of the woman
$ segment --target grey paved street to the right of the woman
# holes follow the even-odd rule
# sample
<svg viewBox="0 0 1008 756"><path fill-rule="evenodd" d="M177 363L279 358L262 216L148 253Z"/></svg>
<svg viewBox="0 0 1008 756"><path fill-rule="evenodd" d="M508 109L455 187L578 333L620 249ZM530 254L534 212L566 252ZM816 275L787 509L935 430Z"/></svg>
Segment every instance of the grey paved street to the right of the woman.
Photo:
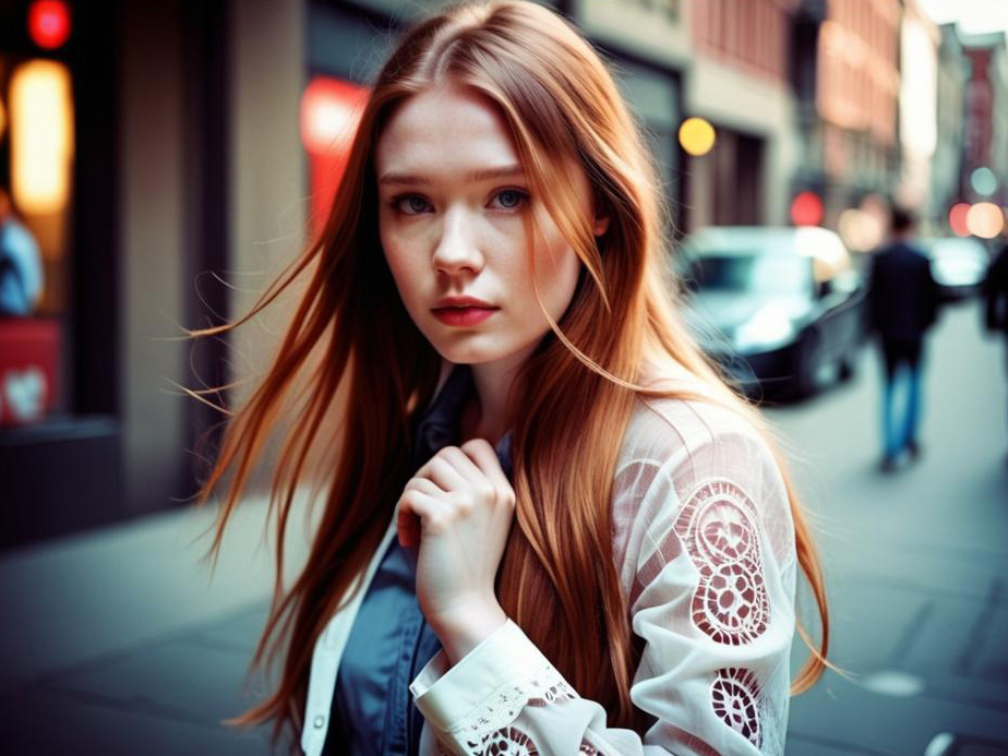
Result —
<svg viewBox="0 0 1008 756"><path fill-rule="evenodd" d="M1008 380L979 323L973 303L943 313L924 455L897 475L875 467L874 351L850 385L768 410L820 532L833 658L855 675L792 700L789 754L924 754L943 732L975 737L956 753L1008 753L989 742L1008 743Z"/></svg>

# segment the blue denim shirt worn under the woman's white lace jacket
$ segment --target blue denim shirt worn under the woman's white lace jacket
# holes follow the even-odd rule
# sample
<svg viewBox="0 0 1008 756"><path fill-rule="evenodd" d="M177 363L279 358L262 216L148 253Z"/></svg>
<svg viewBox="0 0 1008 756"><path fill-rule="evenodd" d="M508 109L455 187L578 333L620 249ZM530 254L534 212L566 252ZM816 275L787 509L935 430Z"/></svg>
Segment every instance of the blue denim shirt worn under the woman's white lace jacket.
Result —
<svg viewBox="0 0 1008 756"><path fill-rule="evenodd" d="M458 421L473 391L471 368L456 365L417 424L412 469L459 441ZM511 433L496 446L511 478ZM409 683L439 650L417 602L416 550L393 538L347 640L333 696L326 756L415 756L423 717Z"/></svg>

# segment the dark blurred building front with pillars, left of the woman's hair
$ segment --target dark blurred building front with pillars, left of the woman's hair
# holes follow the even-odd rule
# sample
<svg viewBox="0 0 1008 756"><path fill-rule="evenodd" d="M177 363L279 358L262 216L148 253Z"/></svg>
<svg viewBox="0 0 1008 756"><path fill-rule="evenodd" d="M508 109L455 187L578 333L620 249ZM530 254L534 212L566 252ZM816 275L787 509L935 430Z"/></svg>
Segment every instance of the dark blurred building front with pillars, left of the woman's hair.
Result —
<svg viewBox="0 0 1008 756"><path fill-rule="evenodd" d="M12 96L19 71L62 67L72 111L61 237L14 182L15 211L62 265L62 293L34 319L59 329L60 399L0 428L0 548L193 495L220 416L179 386L220 385L262 355L249 334L193 344L182 328L242 312L303 240L301 2L63 7L69 35L50 49L31 2L0 2L0 179L16 177L19 131L65 139L51 113L19 123L37 109Z"/></svg>

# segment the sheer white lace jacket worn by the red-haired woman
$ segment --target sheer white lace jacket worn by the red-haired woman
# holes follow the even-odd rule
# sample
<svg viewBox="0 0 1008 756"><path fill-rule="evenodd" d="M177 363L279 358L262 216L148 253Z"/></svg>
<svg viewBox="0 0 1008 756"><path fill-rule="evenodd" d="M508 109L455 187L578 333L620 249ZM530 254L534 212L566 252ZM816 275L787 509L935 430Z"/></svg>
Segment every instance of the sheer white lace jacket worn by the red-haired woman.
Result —
<svg viewBox="0 0 1008 756"><path fill-rule="evenodd" d="M610 728L508 621L455 667L437 653L410 685L420 753L482 756L783 754L795 547L769 448L729 410L637 401L613 485L613 552L644 639L631 697L656 722ZM389 526L376 559L394 537ZM314 650L302 747L322 752L339 656L359 600Z"/></svg>

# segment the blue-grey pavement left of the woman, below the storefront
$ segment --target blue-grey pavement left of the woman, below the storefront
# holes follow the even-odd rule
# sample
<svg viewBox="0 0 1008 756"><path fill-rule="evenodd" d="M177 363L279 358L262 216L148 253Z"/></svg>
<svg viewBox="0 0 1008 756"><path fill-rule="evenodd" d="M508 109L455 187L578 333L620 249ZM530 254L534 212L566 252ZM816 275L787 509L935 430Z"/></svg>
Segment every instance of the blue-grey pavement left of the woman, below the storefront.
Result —
<svg viewBox="0 0 1008 756"><path fill-rule="evenodd" d="M213 581L200 564L209 540L194 541L211 514L154 515L0 559L0 752L269 753L267 729L219 724L263 693L242 683L273 585L265 506L239 513ZM288 568L303 557L298 535Z"/></svg>

